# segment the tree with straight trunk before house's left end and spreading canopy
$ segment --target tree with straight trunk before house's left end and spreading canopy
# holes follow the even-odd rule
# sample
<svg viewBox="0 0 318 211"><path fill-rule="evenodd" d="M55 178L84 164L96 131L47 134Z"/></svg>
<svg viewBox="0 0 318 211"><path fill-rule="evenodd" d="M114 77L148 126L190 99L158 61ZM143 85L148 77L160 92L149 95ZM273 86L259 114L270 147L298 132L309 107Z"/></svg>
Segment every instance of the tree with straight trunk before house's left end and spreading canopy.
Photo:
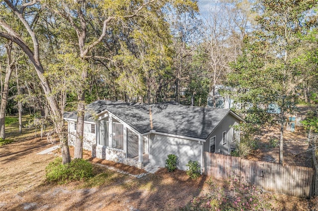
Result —
<svg viewBox="0 0 318 211"><path fill-rule="evenodd" d="M108 35L117 33L114 29L118 29L116 24L122 25L125 28L132 28L132 35L129 36L134 41L134 35L138 35L144 38L144 34L148 32L154 32L162 34L162 24L156 25L156 23L164 22L162 14L162 8L166 4L177 6L178 4L184 5L184 7L191 7L196 5L191 0L187 1L170 1L170 0L150 0L150 1L47 1L48 6L59 17L62 17L71 26L72 30L75 30L77 35L77 48L78 56L82 59L81 62L88 62L90 59L110 60L107 57L107 52L101 54L95 54L96 49L100 48L102 44L108 44ZM116 21L116 22L115 22ZM124 32L120 29L119 33ZM112 39L112 36L108 38ZM74 41L74 40L72 40ZM74 43L74 42L73 42ZM142 52L142 51L140 51ZM145 64L145 63L144 63ZM145 65L144 65L144 68ZM77 119L77 136L75 141L75 158L82 157L82 141L83 141L83 128L84 128L84 101L85 92L87 90L87 77L88 68L82 68L80 70L81 80L78 84L78 119ZM147 71L146 71L147 73ZM149 82L149 81L148 81ZM147 82L147 83L148 83ZM148 87L150 88L150 87ZM150 94L147 94L149 98Z"/></svg>

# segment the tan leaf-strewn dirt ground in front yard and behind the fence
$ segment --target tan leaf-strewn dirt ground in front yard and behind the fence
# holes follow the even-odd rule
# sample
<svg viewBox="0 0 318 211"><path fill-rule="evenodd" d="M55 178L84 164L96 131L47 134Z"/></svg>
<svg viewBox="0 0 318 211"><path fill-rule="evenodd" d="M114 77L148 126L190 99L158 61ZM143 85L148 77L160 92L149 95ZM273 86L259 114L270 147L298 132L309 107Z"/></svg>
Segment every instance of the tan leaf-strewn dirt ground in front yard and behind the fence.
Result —
<svg viewBox="0 0 318 211"><path fill-rule="evenodd" d="M112 165L118 169L138 174L143 170L90 158L84 152L84 158L94 164L95 171L111 175L104 183L89 186L87 183L72 182L66 185L52 185L45 181L45 166L59 153L39 155L38 153L52 147L46 139L18 137L13 143L0 147L0 210L41 210L41 211L149 211L178 210L191 201L193 197L207 193L207 177L190 179L184 171L169 173L161 168L155 174L136 178L117 171L109 170L100 164ZM288 135L288 134L287 134ZM293 135L293 134L292 134ZM297 134L296 134L297 135ZM263 133L262 136L275 136L275 131ZM262 138L268 140L268 138ZM306 137L286 136L286 162L310 165L310 161L301 153L308 148ZM266 147L261 143L260 151L254 158L270 156L277 160L277 147ZM72 148L71 148L72 153ZM301 154L299 154L301 153ZM297 155L299 154L299 155ZM290 158L288 157L290 155ZM298 158L293 159L292 158ZM290 160L291 159L291 160ZM301 161L303 160L303 161ZM95 163L99 163L96 165ZM220 185L222 181L216 181ZM313 210L316 199L306 200L285 195L273 195L273 210ZM316 200L317 201L317 200Z"/></svg>

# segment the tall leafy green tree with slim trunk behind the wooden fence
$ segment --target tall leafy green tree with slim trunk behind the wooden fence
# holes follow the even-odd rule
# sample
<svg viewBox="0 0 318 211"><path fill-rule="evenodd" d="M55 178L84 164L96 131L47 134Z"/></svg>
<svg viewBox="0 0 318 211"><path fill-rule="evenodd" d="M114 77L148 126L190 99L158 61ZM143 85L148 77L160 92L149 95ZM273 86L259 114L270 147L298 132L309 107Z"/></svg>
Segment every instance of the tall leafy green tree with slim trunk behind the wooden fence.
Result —
<svg viewBox="0 0 318 211"><path fill-rule="evenodd" d="M317 3L315 0L259 0L256 7L260 14L256 17L259 28L254 31L254 37L246 40L247 51L239 56L234 64L236 71L230 77L242 95L242 103L252 102L255 108L265 109L269 103L279 106L276 116L280 124L280 163L283 163L287 114L295 112L296 91L304 76L312 77L299 68L300 61L296 58L299 58L302 35L317 23L313 10Z"/></svg>

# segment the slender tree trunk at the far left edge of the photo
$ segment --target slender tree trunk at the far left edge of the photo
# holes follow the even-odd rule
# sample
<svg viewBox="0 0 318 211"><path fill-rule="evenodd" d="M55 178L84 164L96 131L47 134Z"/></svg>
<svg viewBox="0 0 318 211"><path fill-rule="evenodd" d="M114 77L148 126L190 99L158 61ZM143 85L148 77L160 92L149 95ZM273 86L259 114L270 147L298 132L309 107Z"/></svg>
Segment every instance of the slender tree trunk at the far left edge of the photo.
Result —
<svg viewBox="0 0 318 211"><path fill-rule="evenodd" d="M11 50L12 50L12 41L7 42L5 45L6 53L7 53L7 64L5 68L5 77L4 77L4 84L3 84L3 92L1 93L1 106L0 106L0 138L5 139L5 108L9 93L9 80L12 73L13 62L11 61Z"/></svg>

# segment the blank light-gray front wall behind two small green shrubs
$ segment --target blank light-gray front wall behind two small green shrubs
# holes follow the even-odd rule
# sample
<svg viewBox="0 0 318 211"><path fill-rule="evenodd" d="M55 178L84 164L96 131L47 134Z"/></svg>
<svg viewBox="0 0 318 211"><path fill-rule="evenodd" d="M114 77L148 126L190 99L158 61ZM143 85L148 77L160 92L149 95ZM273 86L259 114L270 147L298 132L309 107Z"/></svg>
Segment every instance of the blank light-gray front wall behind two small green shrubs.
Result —
<svg viewBox="0 0 318 211"><path fill-rule="evenodd" d="M164 161L169 154L178 156L178 169L186 170L186 164L189 160L196 160L201 163L202 145L198 141L187 139L151 135L150 136L150 162L154 165L164 167Z"/></svg>

